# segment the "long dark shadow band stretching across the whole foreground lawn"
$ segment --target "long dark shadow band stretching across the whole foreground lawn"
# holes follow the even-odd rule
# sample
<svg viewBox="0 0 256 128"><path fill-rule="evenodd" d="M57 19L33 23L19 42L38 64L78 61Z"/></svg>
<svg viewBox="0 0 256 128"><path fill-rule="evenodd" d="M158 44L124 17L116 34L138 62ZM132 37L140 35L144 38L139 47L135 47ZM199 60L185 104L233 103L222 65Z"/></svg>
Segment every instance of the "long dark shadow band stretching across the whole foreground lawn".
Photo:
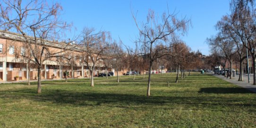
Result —
<svg viewBox="0 0 256 128"><path fill-rule="evenodd" d="M164 106L173 109L177 106L182 108L198 108L198 110L215 111L216 106L255 106L256 99L239 97L214 97L214 96L154 96L151 97L136 94L116 94L99 92L80 92L61 89L44 89L42 94L35 94L36 89L19 89L14 91L0 92L0 98L10 100L28 99L35 102L51 102L60 105L74 106L112 106L112 107L136 107L136 109L152 109ZM239 102L239 103L237 103ZM173 106L174 105L174 106ZM176 106L176 107L175 107Z"/></svg>

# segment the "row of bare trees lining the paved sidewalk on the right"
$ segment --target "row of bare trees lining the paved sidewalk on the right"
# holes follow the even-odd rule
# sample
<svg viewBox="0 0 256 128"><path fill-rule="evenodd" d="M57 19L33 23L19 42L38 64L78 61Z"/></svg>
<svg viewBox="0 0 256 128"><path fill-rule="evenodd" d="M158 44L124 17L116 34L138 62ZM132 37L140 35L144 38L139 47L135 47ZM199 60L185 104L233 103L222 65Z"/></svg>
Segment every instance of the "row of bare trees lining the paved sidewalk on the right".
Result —
<svg viewBox="0 0 256 128"><path fill-rule="evenodd" d="M256 85L256 8L254 0L231 0L231 13L216 24L219 33L207 39L211 47L212 61L225 68L226 62L239 62L239 81L243 81L243 62L247 53L253 60L253 85ZM231 72L232 74L232 72ZM226 76L226 74L225 74ZM231 75L230 75L231 78Z"/></svg>

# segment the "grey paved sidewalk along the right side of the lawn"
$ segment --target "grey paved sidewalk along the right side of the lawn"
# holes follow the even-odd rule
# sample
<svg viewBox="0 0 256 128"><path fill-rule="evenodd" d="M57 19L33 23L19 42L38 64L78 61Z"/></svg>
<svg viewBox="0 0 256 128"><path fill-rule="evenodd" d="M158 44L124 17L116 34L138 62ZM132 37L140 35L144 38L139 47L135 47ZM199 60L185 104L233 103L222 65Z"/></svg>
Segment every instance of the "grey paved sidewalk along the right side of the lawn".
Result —
<svg viewBox="0 0 256 128"><path fill-rule="evenodd" d="M232 79L221 76L221 75L220 76L213 75L213 76L221 78L221 79L226 80L234 85L238 85L240 87L250 90L251 92L256 93L256 85L253 85L253 78L251 76L250 76L250 83L248 83L248 78L246 75L243 76L244 81L238 81L239 76L233 77Z"/></svg>

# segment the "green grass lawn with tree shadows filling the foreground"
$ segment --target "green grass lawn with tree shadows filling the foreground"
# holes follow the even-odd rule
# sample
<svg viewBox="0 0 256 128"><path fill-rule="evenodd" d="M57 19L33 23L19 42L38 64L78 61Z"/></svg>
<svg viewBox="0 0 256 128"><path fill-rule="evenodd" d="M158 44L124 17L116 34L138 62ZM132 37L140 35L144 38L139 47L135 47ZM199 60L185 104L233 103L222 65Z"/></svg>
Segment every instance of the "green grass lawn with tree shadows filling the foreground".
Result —
<svg viewBox="0 0 256 128"><path fill-rule="evenodd" d="M167 86L170 82L170 87ZM255 128L256 94L193 74L43 81L0 85L0 128Z"/></svg>

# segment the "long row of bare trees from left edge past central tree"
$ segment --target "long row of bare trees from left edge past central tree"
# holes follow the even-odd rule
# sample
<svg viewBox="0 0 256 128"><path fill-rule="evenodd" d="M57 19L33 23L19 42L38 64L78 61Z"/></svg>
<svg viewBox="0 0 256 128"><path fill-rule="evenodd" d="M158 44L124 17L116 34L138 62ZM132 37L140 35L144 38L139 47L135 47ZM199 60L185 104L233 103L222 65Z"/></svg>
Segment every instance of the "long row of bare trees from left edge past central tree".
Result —
<svg viewBox="0 0 256 128"><path fill-rule="evenodd" d="M190 20L179 19L175 13L163 13L156 17L149 9L146 23L139 24L132 14L139 30L136 48L123 47L122 41L112 41L107 31L97 32L94 28L85 27L76 38L63 40L65 31L71 25L60 19L62 7L59 3L46 3L44 0L2 0L0 2L0 29L19 34L17 41L20 47L20 60L35 65L38 71L38 93L41 93L41 74L46 62L56 62L62 69L86 66L90 71L91 86L94 86L95 67L114 68L119 82L119 71L137 70L144 75L148 71L147 96L150 96L150 83L156 63L166 67L184 71L196 63L196 53L178 38L179 34L187 33ZM15 40L16 40L15 39ZM56 49L57 48L57 49ZM60 49L61 48L61 49ZM77 65L79 61L79 65ZM194 64L194 65L193 65ZM178 71L179 72L179 71ZM178 82L177 74L177 82ZM182 77L181 77L182 78ZM134 75L135 79L135 75Z"/></svg>

